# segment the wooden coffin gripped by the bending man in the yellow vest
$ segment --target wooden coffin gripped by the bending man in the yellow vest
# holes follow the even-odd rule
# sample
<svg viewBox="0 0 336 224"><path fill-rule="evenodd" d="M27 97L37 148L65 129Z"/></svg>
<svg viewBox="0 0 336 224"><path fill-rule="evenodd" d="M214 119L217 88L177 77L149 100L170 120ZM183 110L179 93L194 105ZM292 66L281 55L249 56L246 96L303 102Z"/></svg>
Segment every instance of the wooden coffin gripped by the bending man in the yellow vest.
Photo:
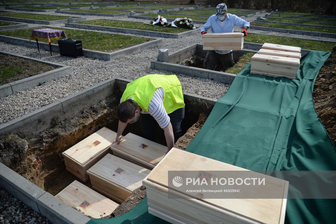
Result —
<svg viewBox="0 0 336 224"><path fill-rule="evenodd" d="M128 133L119 145L113 144L111 150L115 156L152 170L165 155L167 146Z"/></svg>

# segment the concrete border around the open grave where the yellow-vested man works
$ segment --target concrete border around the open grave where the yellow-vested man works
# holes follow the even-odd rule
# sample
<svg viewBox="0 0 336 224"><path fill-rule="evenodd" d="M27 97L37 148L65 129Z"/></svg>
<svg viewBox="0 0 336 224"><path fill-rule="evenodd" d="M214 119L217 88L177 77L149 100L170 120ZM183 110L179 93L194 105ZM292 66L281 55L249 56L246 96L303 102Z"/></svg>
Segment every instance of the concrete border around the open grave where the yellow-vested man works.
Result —
<svg viewBox="0 0 336 224"><path fill-rule="evenodd" d="M49 128L50 122L55 117L62 121L66 118L78 116L82 110L88 109L100 100L112 95L114 87L124 91L126 85L131 81L119 77L110 78L24 116L1 124L0 133L16 133L20 131L27 134L37 134ZM184 93L184 97L200 99L210 105L214 105L217 101L216 99L188 93ZM41 122L37 123L37 120ZM51 223L73 224L90 221L90 218L81 212L71 208L2 163L0 163L0 185L28 207L32 207L34 211L45 216Z"/></svg>

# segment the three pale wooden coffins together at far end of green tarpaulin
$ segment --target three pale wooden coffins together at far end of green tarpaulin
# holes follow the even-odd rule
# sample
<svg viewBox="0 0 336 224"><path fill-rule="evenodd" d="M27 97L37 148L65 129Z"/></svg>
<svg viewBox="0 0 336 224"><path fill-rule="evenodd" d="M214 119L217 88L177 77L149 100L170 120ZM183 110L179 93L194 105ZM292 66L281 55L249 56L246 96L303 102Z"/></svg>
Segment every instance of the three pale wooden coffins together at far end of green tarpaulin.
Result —
<svg viewBox="0 0 336 224"><path fill-rule="evenodd" d="M252 57L251 73L295 79L300 52L300 47L264 43Z"/></svg>

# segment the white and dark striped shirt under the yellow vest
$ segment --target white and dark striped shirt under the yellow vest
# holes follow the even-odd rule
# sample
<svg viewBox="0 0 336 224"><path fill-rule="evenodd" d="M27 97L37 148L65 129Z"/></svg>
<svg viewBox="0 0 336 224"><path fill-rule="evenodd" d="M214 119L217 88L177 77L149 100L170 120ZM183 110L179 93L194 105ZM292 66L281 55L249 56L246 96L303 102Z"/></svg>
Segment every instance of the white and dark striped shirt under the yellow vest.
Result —
<svg viewBox="0 0 336 224"><path fill-rule="evenodd" d="M161 128L165 128L168 126L170 122L170 117L167 114L166 109L163 106L163 99L165 93L163 88L158 88L154 92L154 96L149 103L148 112L141 109L140 113L142 114L150 114L154 117L154 119L158 122ZM122 99L120 99L120 103L122 103Z"/></svg>

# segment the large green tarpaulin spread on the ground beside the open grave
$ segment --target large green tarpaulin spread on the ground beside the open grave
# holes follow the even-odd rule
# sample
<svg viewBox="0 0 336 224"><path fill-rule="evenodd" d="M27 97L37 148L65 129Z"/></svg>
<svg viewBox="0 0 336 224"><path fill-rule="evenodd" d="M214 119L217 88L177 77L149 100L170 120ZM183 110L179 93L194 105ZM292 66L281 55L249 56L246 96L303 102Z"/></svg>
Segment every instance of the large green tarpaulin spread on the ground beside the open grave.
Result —
<svg viewBox="0 0 336 224"><path fill-rule="evenodd" d="M336 170L335 147L311 96L329 55L309 52L301 59L295 80L250 74L248 64L186 151L254 171ZM334 199L288 199L286 223L334 223L335 211ZM161 221L148 214L145 198L122 216L89 223Z"/></svg>

